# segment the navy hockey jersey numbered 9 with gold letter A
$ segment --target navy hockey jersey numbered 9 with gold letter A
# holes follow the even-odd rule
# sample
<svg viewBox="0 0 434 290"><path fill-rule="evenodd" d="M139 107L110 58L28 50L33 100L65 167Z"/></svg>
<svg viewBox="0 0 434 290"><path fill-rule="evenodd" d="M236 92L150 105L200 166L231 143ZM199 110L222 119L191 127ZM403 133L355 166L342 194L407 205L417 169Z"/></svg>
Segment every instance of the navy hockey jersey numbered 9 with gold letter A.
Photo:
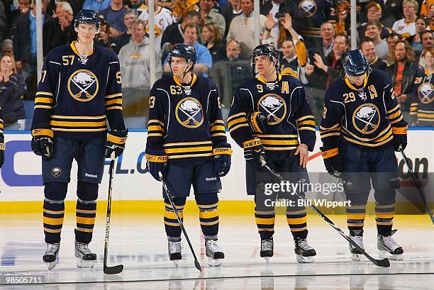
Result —
<svg viewBox="0 0 434 290"><path fill-rule="evenodd" d="M266 134L252 135L246 115L261 111L268 118ZM274 83L262 77L244 82L235 91L228 128L235 142L244 147L260 138L266 151L294 150L300 142L312 151L315 145L315 120L304 88L295 77L278 74Z"/></svg>

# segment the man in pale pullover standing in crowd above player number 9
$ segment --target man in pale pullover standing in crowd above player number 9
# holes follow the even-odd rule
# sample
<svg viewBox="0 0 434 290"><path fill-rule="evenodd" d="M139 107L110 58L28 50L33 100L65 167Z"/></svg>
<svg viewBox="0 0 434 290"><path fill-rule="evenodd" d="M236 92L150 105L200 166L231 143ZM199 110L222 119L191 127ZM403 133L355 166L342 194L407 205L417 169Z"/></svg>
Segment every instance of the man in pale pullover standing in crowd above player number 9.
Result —
<svg viewBox="0 0 434 290"><path fill-rule="evenodd" d="M253 14L253 0L241 0L241 15L235 16L229 26L229 32L226 40L238 40L243 50L251 53L257 46L255 43L255 20ZM259 9L259 7L257 8ZM260 15L260 35L265 31L265 21L267 18Z"/></svg>

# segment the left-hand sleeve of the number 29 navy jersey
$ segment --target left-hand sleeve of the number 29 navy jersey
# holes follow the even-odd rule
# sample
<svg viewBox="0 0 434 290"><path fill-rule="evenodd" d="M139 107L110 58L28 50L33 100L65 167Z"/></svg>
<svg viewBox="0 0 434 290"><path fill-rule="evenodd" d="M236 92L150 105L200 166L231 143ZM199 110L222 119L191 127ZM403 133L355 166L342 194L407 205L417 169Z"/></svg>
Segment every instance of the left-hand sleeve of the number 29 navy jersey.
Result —
<svg viewBox="0 0 434 290"><path fill-rule="evenodd" d="M342 103L332 101L329 90L325 91L320 136L326 148L338 147L341 122L345 113L344 108Z"/></svg>

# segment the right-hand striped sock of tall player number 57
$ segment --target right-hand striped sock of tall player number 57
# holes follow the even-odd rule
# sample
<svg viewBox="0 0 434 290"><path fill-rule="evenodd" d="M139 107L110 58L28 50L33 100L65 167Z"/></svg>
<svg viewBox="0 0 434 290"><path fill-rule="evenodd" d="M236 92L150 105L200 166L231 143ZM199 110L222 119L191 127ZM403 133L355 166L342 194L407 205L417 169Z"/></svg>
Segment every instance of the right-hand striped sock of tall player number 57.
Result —
<svg viewBox="0 0 434 290"><path fill-rule="evenodd" d="M77 220L77 228L75 229L76 240L89 244L92 240L92 233L94 232L96 201L77 199L75 217Z"/></svg>

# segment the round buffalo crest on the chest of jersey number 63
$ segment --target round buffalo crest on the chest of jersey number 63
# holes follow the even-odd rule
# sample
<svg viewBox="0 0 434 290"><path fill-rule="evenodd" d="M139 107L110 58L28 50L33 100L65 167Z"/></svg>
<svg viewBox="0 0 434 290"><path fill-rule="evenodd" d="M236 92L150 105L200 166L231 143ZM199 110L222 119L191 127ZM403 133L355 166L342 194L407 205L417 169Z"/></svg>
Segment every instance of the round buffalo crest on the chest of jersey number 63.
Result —
<svg viewBox="0 0 434 290"><path fill-rule="evenodd" d="M178 122L187 128L197 128L204 123L204 113L201 103L191 97L179 101L175 114Z"/></svg>

